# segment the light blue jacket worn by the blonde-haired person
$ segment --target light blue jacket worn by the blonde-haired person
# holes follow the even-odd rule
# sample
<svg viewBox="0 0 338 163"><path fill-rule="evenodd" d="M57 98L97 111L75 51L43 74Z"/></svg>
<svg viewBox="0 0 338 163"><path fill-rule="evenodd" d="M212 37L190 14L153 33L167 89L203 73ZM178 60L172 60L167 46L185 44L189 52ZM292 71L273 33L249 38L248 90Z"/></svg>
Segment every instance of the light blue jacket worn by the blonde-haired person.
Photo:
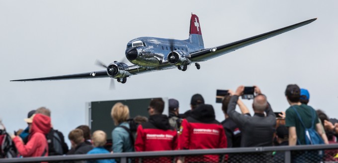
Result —
<svg viewBox="0 0 338 163"><path fill-rule="evenodd" d="M122 122L118 126L126 126L129 127L128 122ZM131 143L129 133L122 127L116 126L112 131L112 139L113 139L113 152L134 152L134 144Z"/></svg>

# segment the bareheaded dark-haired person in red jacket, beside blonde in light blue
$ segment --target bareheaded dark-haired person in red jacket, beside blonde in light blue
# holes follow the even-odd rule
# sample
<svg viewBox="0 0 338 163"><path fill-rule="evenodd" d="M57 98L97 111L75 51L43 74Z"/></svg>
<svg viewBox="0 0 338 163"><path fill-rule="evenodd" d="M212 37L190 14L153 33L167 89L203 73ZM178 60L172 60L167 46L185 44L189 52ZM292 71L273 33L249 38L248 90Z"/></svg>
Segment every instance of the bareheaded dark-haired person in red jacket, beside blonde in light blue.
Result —
<svg viewBox="0 0 338 163"><path fill-rule="evenodd" d="M166 151L177 150L178 139L176 130L169 125L169 118L162 114L165 102L162 99L153 99L148 107L149 121L142 123L137 128L135 151ZM159 158L160 162L170 163L167 157ZM152 162L154 159L144 159Z"/></svg>

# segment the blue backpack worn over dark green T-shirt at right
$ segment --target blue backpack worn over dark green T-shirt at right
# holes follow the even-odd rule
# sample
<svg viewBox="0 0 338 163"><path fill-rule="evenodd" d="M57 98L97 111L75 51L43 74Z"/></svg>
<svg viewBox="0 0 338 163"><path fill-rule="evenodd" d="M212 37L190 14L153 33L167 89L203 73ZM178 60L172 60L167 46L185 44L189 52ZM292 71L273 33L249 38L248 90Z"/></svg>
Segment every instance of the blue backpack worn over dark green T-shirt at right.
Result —
<svg viewBox="0 0 338 163"><path fill-rule="evenodd" d="M306 128L303 121L302 121L302 118L300 117L299 113L297 112L297 110L292 107L293 110L295 110L302 126L305 128L305 144L306 145L310 145L310 144L324 144L324 141L322 139L322 137L320 137L320 135L317 133L317 131L315 130L314 128L314 124L315 124L315 110L312 109L312 124L311 124L311 127L310 128ZM297 140L297 142L300 144L299 140Z"/></svg>

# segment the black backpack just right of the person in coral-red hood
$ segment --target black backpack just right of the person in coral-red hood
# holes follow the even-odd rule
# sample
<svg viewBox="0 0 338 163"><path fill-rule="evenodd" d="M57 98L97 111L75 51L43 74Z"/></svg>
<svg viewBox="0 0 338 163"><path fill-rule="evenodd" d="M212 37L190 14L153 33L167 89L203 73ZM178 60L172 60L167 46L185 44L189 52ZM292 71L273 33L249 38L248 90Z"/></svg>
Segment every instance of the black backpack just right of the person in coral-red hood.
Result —
<svg viewBox="0 0 338 163"><path fill-rule="evenodd" d="M64 151L62 148L63 140L58 133L58 130L54 130L53 128L49 131L46 135L46 139L48 142L48 156L55 156L55 155L63 155Z"/></svg>

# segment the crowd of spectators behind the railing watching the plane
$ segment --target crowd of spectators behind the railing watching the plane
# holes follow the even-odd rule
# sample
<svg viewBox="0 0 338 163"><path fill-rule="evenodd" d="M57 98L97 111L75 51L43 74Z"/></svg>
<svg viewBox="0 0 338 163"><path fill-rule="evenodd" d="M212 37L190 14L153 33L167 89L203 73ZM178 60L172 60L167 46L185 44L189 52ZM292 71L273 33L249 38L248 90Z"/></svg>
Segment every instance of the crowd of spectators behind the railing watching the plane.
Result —
<svg viewBox="0 0 338 163"><path fill-rule="evenodd" d="M273 112L259 87L254 86L254 99L250 114L247 106L241 100L245 90L239 86L235 92L222 100L222 110L225 120L215 119L213 106L205 104L202 95L191 97L190 110L179 114L179 102L169 99L169 116L163 114L165 102L163 99L153 99L148 107L149 118L137 116L130 118L128 106L116 103L111 109L111 117L115 128L111 132L112 146L106 146L106 133L96 130L92 133L88 126L81 125L68 134L70 149L64 140L64 135L54 129L51 124L51 111L39 108L28 112L24 121L28 126L19 130L11 138L19 156L42 157L74 154L108 154L121 152L216 149L239 147L267 147L307 145L307 131L313 129L321 139L322 144L336 143L338 137L338 120L329 118L324 111L315 110L308 105L310 94L306 89L300 89L295 84L286 87L286 102L288 109L279 114ZM236 111L236 106L240 112ZM279 116L279 117L276 117ZM130 121L134 123L131 124ZM135 126L136 127L135 127ZM328 161L337 161L338 151L328 151ZM257 162L272 162L273 156L282 153L263 152ZM294 157L294 162L308 157L308 153L300 153ZM316 156L316 153L312 153ZM161 162L172 162L169 157L161 157ZM194 157L179 157L177 163L217 163L220 161L239 161L235 155L203 155ZM140 160L141 161L141 160ZM88 163L116 163L118 159L88 161ZM142 162L151 160L145 158ZM278 162L274 160L273 162ZM311 161L310 161L311 162Z"/></svg>

